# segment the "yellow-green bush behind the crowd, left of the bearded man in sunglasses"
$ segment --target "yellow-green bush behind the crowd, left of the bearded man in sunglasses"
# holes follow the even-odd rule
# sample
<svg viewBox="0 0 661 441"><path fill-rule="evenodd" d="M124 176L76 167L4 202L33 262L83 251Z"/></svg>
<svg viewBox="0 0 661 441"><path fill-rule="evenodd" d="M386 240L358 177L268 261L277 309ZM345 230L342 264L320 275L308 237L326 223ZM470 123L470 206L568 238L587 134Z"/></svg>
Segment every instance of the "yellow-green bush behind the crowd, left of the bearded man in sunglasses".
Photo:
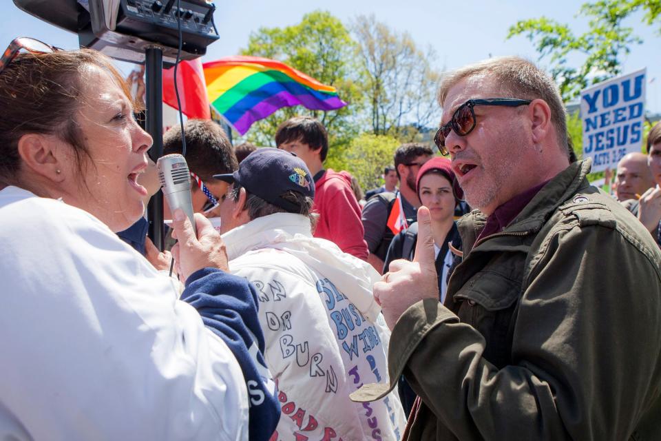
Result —
<svg viewBox="0 0 661 441"><path fill-rule="evenodd" d="M384 183L384 167L392 163L399 141L388 135L364 133L353 139L348 147L333 160L326 159L326 167L346 170L357 179L363 190Z"/></svg>

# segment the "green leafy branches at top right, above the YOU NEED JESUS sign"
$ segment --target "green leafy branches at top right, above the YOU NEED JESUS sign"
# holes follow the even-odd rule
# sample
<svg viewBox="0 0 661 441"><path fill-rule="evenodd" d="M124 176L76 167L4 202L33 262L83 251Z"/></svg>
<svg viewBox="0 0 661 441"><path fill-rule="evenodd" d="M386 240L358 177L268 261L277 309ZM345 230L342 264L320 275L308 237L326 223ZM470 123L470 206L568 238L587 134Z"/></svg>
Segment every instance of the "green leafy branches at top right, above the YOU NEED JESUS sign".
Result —
<svg viewBox="0 0 661 441"><path fill-rule="evenodd" d="M631 45L642 40L633 28L623 21L633 12L643 10L648 25L658 23L661 0L598 0L583 3L578 15L589 19L589 28L580 35L568 25L541 17L518 21L510 27L507 38L524 34L532 41L540 59L547 59L552 74L565 101L577 96L580 90L622 73L622 57ZM583 65L575 68L568 58L578 54Z"/></svg>

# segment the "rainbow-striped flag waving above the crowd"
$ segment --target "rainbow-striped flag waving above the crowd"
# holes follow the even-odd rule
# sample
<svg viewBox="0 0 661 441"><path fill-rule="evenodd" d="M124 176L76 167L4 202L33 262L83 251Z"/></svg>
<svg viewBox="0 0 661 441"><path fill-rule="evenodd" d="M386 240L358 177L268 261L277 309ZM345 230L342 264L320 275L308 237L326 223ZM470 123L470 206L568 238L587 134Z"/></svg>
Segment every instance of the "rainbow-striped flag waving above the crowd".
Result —
<svg viewBox="0 0 661 441"><path fill-rule="evenodd" d="M335 110L346 105L333 86L280 61L237 56L202 66L209 103L240 134L282 107Z"/></svg>

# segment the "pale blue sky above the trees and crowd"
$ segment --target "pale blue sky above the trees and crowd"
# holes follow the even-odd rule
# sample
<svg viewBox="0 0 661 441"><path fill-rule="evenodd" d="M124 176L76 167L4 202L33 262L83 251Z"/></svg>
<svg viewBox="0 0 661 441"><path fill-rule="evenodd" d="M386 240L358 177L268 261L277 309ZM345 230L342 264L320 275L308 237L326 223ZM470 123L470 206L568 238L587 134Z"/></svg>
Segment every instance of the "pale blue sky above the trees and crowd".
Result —
<svg viewBox="0 0 661 441"><path fill-rule="evenodd" d="M72 49L78 45L74 34L55 28L26 14L4 0L3 26L0 28L0 44L8 44L14 37L25 36L41 39L61 48ZM525 37L505 40L507 29L520 19L545 15L561 23L569 23L575 32L585 30L587 21L576 18L580 2L554 0L532 2L510 1L432 1L432 0L287 0L216 1L216 27L220 40L209 46L203 61L234 55L247 45L251 32L262 26L286 26L300 21L303 14L313 10L328 10L348 23L359 14L375 14L379 21L400 32L409 32L421 47L431 45L437 52L437 67L458 68L472 61L490 56L520 55L537 60L532 43ZM644 43L632 48L624 60L623 72L629 73L647 67L647 108L661 112L661 37L642 24L642 14L627 22L636 29ZM580 63L580 60L576 60ZM131 66L120 65L129 72Z"/></svg>

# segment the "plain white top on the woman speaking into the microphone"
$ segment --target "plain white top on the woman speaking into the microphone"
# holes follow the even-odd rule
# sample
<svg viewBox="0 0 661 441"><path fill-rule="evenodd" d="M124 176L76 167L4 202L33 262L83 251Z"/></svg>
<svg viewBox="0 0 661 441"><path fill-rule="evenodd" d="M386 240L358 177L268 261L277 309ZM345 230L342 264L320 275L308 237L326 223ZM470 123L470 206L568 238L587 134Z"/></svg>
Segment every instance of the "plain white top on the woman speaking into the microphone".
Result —
<svg viewBox="0 0 661 441"><path fill-rule="evenodd" d="M106 225L0 191L0 440L247 440L227 345Z"/></svg>

